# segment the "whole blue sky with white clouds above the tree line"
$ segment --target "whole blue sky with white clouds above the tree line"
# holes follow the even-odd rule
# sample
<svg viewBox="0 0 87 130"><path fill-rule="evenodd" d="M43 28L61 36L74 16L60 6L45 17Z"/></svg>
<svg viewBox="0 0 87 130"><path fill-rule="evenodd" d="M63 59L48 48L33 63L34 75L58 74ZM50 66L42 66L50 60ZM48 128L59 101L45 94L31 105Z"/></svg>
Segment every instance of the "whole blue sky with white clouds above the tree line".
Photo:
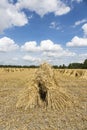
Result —
<svg viewBox="0 0 87 130"><path fill-rule="evenodd" d="M87 0L0 0L0 65L87 59Z"/></svg>

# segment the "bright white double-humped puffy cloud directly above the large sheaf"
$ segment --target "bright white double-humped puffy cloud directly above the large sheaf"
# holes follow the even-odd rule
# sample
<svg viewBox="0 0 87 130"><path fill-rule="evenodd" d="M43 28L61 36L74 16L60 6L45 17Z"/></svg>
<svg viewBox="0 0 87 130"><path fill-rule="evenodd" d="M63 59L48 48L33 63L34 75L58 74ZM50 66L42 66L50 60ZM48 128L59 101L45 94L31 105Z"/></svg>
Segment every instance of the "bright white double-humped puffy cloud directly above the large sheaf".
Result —
<svg viewBox="0 0 87 130"><path fill-rule="evenodd" d="M62 47L59 44L54 44L51 40L43 40L40 42L40 45L37 45L36 41L26 42L21 46L21 49L28 52L37 52L37 51L58 51L62 50Z"/></svg>

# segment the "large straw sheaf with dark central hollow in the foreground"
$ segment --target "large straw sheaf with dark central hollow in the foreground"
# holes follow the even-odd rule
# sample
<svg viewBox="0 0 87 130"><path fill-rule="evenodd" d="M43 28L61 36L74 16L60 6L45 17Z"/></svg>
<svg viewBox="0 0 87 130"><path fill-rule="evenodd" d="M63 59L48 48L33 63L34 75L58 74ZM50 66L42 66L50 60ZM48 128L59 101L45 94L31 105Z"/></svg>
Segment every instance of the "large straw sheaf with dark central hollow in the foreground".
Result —
<svg viewBox="0 0 87 130"><path fill-rule="evenodd" d="M65 109L71 106L72 100L60 91L53 68L44 63L38 68L27 88L20 92L17 108L46 108L52 110Z"/></svg>

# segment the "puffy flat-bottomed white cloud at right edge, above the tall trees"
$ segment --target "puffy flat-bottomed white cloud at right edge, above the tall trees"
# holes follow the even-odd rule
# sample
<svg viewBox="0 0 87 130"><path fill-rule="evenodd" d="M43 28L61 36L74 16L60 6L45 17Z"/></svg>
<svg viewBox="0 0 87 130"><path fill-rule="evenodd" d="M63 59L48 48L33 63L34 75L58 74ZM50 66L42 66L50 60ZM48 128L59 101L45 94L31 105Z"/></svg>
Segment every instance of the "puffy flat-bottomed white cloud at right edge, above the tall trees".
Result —
<svg viewBox="0 0 87 130"><path fill-rule="evenodd" d="M66 43L66 46L71 47L87 46L87 38L80 38L75 36L70 42Z"/></svg>

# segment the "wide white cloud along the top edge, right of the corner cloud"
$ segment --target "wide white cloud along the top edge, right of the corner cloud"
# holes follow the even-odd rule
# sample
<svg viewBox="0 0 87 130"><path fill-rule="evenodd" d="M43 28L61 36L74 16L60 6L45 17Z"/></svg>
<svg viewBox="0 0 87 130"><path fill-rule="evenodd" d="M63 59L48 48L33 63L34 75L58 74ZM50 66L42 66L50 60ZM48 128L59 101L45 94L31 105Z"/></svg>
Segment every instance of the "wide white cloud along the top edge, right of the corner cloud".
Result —
<svg viewBox="0 0 87 130"><path fill-rule="evenodd" d="M35 11L40 16L44 16L48 13L63 15L70 11L70 7L68 7L61 0L18 0L16 6L19 9L26 8L32 12Z"/></svg>

